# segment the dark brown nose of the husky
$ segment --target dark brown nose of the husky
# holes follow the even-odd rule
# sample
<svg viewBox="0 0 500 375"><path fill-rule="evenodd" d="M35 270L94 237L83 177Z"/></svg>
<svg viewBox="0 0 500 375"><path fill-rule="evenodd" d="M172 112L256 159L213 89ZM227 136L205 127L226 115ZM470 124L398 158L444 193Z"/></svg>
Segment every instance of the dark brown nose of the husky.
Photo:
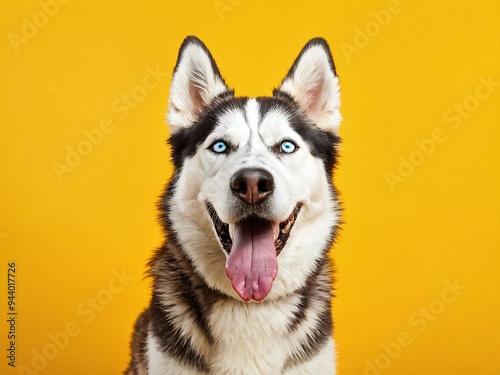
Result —
<svg viewBox="0 0 500 375"><path fill-rule="evenodd" d="M241 169L231 177L231 190L243 202L255 205L271 195L274 178L264 169Z"/></svg>

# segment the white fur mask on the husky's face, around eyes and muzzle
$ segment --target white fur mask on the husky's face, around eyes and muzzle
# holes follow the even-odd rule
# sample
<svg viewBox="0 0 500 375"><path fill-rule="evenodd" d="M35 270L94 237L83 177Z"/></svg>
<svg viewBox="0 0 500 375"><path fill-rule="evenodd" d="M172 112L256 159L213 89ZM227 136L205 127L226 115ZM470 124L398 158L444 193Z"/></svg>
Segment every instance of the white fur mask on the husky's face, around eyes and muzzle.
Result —
<svg viewBox="0 0 500 375"><path fill-rule="evenodd" d="M246 111L258 113L257 102L249 100ZM247 115L248 118L248 115ZM306 275L314 268L320 251L325 247L338 221L335 204L325 179L322 162L311 155L307 144L288 124L286 114L272 111L266 116L258 132L257 128L245 122L243 113L235 109L222 116L219 125L200 151L185 160L183 173L179 177L172 200L171 213L177 220L173 229L179 240L190 249L189 254L206 282L224 293L239 298L224 273L226 257L221 250L211 219L206 212L205 202L212 203L223 222L232 225L230 205L237 198L229 188L231 176L244 167L261 167L268 170L275 180L275 191L271 199L275 221L285 221L295 204L303 207L288 240L286 251L278 257L279 272L271 293L266 299L273 299L291 293L303 286ZM239 147L226 156L215 155L208 146L221 134ZM283 155L279 160L269 146L281 139L292 139L299 150ZM246 147L252 140L250 148ZM206 233L211 233L207 238ZM304 257L301 248L310 249Z"/></svg>

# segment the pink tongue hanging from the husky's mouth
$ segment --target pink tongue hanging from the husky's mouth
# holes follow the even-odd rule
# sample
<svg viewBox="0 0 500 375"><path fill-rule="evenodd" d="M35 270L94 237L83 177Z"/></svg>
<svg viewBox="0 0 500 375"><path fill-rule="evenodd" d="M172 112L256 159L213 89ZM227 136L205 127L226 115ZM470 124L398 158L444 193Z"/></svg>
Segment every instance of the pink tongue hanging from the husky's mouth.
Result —
<svg viewBox="0 0 500 375"><path fill-rule="evenodd" d="M278 273L273 224L248 219L236 224L226 275L244 301L262 301Z"/></svg>

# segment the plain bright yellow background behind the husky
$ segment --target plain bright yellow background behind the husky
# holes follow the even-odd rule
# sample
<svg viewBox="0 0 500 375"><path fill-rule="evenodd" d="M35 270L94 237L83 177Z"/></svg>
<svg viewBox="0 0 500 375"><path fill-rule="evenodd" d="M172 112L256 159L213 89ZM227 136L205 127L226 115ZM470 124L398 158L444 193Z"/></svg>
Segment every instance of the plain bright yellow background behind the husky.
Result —
<svg viewBox="0 0 500 375"><path fill-rule="evenodd" d="M43 4L0 2L2 374L126 367L161 242L171 71L190 34L251 96L270 94L310 38L331 45L344 116L339 374L500 374L499 1ZM125 113L131 93L141 101ZM85 149L83 132L103 121ZM88 155L58 176L78 145ZM8 261L17 370L5 356Z"/></svg>

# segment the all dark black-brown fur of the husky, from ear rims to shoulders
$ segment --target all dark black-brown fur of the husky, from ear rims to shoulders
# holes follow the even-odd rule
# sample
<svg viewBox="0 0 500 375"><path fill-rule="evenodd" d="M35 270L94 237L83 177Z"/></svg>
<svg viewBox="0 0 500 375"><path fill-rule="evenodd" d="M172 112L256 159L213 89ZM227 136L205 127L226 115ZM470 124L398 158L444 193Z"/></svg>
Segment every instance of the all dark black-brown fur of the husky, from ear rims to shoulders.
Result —
<svg viewBox="0 0 500 375"><path fill-rule="evenodd" d="M174 74L182 60L184 49L191 43L203 48L210 57L214 74L218 75L224 82L207 47L196 37L187 37L182 43ZM293 74L303 53L313 45L321 45L325 49L329 56L330 67L335 73L335 66L328 45L323 39L316 38L306 44L292 65L287 77ZM149 275L153 280L152 298L149 308L142 313L136 323L132 342L133 355L127 370L128 375L136 375L145 370L148 327L152 328L160 349L168 353L169 356L199 372L214 374L213 370L211 370L211 358L203 357L201 353L194 349L189 335L183 335L180 327L173 323L171 310L173 307L182 306L186 311L185 318L192 320L208 345L215 345L216 339L211 332L207 317L210 316L215 303L228 301L229 299L232 301L232 297L210 288L203 277L198 274L173 230L173 218L170 216L169 207L184 160L195 155L200 145L217 126L221 114L229 108L243 110L247 101L248 98L235 97L234 91L228 89L204 108L194 124L188 128L177 130L169 139L174 173L158 203L159 221L165 232L165 241L149 262ZM336 191L331 184L331 174L337 161L339 137L315 126L299 109L293 98L278 89L274 90L272 97L259 97L257 101L261 120L273 108L283 110L289 115L292 128L309 145L311 154L322 160L332 195L336 197ZM245 114L244 110L242 113ZM299 330L301 325L304 324L303 318L312 304L321 306L319 323L300 343L300 349L290 354L285 361L284 369L281 370L294 367L314 357L332 335L331 282L333 277L328 259L328 250L335 239L337 229L336 226L333 228L331 238L322 249L322 257L318 260L316 268L311 271L305 286L295 291L293 298L299 296L300 302L296 305L297 309L288 322L288 327L290 332ZM179 286L169 295L169 298L165 298L162 294L162 288L167 284ZM284 296L282 298L286 300L292 297ZM266 302L263 301L262 303Z"/></svg>

